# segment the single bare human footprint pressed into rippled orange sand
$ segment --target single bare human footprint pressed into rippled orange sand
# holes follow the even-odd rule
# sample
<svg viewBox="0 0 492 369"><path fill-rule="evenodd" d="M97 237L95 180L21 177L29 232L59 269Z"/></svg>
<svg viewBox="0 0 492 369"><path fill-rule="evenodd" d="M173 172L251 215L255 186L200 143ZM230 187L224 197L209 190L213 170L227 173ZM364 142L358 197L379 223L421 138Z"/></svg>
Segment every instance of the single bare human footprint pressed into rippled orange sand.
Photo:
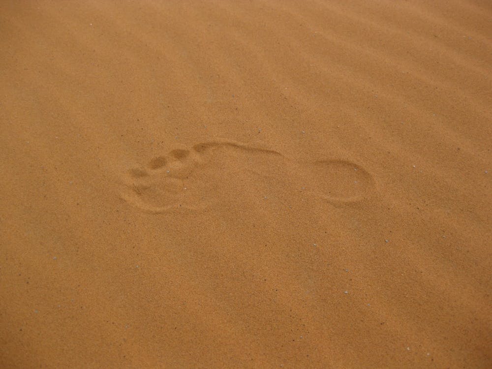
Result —
<svg viewBox="0 0 492 369"><path fill-rule="evenodd" d="M302 187L308 195L336 206L362 202L375 188L372 176L350 161L301 162L275 150L215 140L172 150L144 168L130 169L121 197L150 213L204 210L231 189L237 192L231 196L238 197L261 192L265 183L287 195Z"/></svg>

